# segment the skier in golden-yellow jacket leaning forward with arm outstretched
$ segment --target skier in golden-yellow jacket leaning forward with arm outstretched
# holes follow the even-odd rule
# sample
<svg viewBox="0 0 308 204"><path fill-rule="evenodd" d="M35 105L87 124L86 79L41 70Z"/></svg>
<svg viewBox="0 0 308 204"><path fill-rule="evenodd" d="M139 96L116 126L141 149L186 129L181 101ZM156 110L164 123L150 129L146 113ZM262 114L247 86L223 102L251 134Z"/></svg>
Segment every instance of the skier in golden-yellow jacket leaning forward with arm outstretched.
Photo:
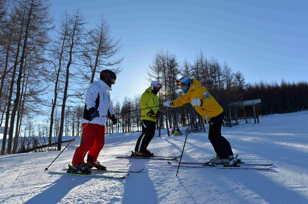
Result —
<svg viewBox="0 0 308 204"><path fill-rule="evenodd" d="M168 100L163 105L167 107L179 107L189 103L207 121L209 121L208 139L214 147L217 157L211 160L211 164L224 164L233 159L233 152L229 142L221 135L223 123L223 109L215 98L209 94L200 81L182 77L176 81L184 95L175 100ZM207 163L205 163L207 164Z"/></svg>

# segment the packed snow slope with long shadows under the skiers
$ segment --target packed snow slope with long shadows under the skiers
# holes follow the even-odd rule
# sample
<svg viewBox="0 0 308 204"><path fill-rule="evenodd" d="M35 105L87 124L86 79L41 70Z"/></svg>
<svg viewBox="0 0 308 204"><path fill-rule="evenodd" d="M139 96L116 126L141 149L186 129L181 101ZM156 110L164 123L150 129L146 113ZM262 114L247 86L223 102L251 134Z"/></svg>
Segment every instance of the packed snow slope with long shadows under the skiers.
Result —
<svg viewBox="0 0 308 204"><path fill-rule="evenodd" d="M44 172L60 151L0 156L0 203L308 203L307 121L308 111L303 111L222 128L234 154L246 163L273 163L269 171L180 167L176 176L177 167L166 160L116 158L130 154L141 132L106 135L98 158L103 165L109 170L144 169L124 179ZM182 161L205 162L216 155L207 134L188 134ZM156 155L177 156L184 141L185 134L168 137L162 130L162 137L154 137L148 149ZM49 171L65 172L79 144L77 137Z"/></svg>

